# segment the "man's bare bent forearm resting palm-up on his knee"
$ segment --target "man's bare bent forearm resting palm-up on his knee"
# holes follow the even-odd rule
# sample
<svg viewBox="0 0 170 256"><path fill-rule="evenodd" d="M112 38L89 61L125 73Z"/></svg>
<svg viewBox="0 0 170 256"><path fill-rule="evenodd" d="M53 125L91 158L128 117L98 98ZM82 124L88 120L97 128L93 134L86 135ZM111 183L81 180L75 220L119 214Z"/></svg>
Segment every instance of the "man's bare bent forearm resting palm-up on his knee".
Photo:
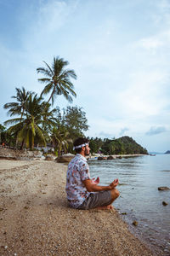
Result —
<svg viewBox="0 0 170 256"><path fill-rule="evenodd" d="M82 181L82 183L85 185L88 192L99 192L114 189L119 182L118 179L115 179L109 186L99 186L94 184L91 179L86 179Z"/></svg>

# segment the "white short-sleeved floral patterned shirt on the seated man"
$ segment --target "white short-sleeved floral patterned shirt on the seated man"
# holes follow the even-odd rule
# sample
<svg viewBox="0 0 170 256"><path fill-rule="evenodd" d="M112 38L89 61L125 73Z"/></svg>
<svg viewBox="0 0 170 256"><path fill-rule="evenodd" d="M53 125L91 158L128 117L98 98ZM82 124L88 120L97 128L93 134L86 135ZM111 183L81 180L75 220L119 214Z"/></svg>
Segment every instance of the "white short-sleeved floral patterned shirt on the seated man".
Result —
<svg viewBox="0 0 170 256"><path fill-rule="evenodd" d="M86 179L90 179L87 160L82 154L77 154L68 165L66 177L65 190L71 207L79 207L90 195L82 183Z"/></svg>

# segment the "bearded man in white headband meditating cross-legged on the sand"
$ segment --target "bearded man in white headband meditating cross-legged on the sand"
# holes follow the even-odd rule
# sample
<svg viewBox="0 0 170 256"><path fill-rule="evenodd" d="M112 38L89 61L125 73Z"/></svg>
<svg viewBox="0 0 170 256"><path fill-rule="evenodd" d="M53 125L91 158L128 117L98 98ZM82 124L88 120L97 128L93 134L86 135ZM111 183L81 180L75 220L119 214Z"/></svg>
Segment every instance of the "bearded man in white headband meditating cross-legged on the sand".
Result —
<svg viewBox="0 0 170 256"><path fill-rule="evenodd" d="M85 156L90 152L88 139L78 138L74 142L77 155L68 165L66 193L70 207L77 209L113 209L111 203L120 195L116 189L118 179L108 186L99 186L99 178L90 178Z"/></svg>

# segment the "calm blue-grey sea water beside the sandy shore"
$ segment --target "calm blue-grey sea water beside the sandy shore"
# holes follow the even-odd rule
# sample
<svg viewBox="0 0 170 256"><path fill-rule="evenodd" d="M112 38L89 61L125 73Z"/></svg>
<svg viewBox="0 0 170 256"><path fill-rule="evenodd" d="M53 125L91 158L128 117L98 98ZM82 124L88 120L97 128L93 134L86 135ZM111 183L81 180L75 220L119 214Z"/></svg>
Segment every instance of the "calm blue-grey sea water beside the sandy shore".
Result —
<svg viewBox="0 0 170 256"><path fill-rule="evenodd" d="M170 255L170 190L158 190L170 188L170 154L88 160L88 164L91 177L99 177L101 185L119 179L121 195L113 205L135 233L161 250L161 255ZM162 201L168 205L163 206Z"/></svg>

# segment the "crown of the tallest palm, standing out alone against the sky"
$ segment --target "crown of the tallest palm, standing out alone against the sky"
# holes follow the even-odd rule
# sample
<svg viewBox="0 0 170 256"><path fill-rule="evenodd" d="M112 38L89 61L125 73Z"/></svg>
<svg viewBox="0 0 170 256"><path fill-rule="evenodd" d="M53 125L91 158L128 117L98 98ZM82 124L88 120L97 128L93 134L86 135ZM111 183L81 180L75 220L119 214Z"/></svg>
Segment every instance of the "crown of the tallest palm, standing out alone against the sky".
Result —
<svg viewBox="0 0 170 256"><path fill-rule="evenodd" d="M70 78L77 79L77 75L74 70L65 69L65 66L67 66L69 62L59 58L59 56L54 57L52 67L49 67L48 63L45 61L43 62L46 67L37 68L37 73L45 75L45 78L38 79L42 84L46 84L45 88L42 90L42 95L51 92L48 102L52 101L52 105L54 104L55 97L59 95L65 96L66 100L72 102L71 95L76 97L77 94L73 90L74 85L71 83Z"/></svg>

